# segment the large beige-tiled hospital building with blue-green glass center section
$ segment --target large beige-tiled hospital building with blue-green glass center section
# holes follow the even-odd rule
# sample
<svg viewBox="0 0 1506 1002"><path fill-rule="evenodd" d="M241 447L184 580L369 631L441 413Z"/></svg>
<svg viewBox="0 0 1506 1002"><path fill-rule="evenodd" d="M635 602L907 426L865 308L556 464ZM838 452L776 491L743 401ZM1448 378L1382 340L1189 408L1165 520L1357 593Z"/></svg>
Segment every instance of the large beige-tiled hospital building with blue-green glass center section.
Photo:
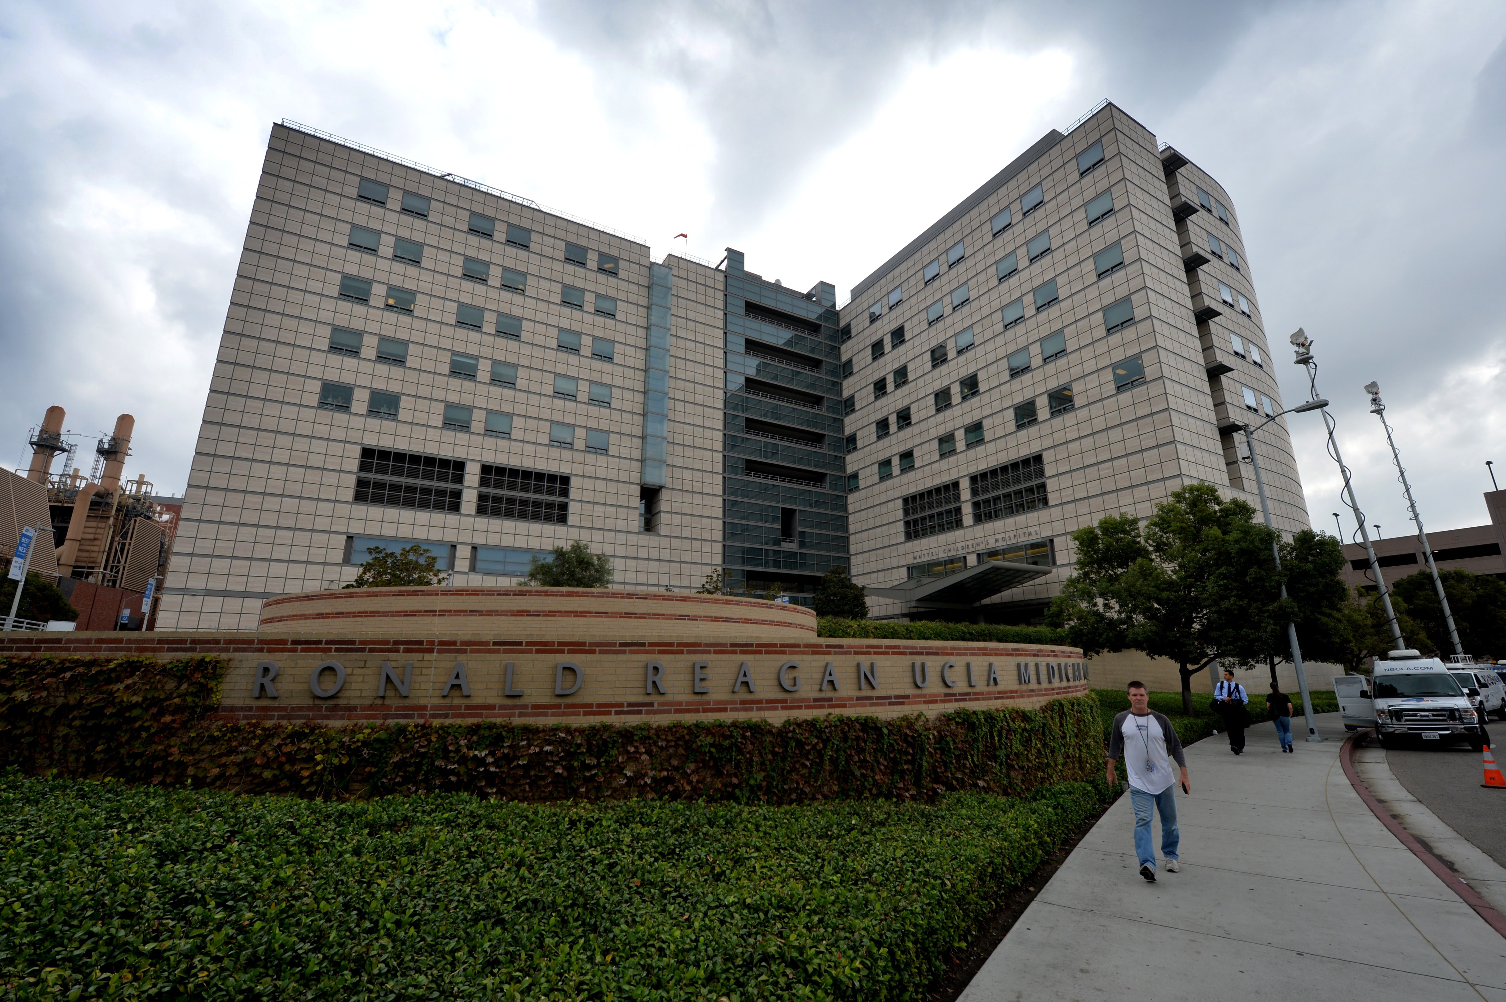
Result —
<svg viewBox="0 0 1506 1002"><path fill-rule="evenodd" d="M904 235L896 236L896 244ZM616 584L1039 618L1069 534L1215 483L1280 409L1229 194L1113 104L1053 129L851 301L283 122L268 140L161 629L419 543L506 584L572 540ZM1282 420L1256 448L1307 527Z"/></svg>

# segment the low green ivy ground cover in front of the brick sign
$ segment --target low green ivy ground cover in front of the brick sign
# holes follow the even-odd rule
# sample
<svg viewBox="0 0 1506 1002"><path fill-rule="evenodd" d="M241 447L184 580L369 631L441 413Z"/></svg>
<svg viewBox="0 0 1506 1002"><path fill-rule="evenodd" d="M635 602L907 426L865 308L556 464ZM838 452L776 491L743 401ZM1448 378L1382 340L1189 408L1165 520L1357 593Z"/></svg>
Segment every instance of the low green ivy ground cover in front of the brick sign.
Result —
<svg viewBox="0 0 1506 1002"><path fill-rule="evenodd" d="M355 803L0 773L6 997L919 999L1105 802Z"/></svg>

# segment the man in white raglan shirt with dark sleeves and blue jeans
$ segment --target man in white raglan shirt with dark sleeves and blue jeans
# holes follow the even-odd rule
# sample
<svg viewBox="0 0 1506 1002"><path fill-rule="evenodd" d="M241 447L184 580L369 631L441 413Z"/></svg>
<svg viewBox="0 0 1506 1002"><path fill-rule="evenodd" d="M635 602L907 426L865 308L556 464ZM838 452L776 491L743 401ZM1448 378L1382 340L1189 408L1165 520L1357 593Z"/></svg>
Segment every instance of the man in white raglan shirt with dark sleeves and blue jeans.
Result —
<svg viewBox="0 0 1506 1002"><path fill-rule="evenodd" d="M1151 841L1151 812L1161 812L1161 856L1169 873L1181 871L1176 830L1176 794L1191 793L1187 781L1187 757L1172 721L1151 709L1151 692L1143 682L1126 686L1130 709L1114 718L1108 728L1108 785L1114 785L1114 763L1125 760L1130 778L1130 803L1134 805L1134 852L1140 858L1140 876L1155 880L1155 846ZM1181 778L1172 775L1172 758L1182 767Z"/></svg>

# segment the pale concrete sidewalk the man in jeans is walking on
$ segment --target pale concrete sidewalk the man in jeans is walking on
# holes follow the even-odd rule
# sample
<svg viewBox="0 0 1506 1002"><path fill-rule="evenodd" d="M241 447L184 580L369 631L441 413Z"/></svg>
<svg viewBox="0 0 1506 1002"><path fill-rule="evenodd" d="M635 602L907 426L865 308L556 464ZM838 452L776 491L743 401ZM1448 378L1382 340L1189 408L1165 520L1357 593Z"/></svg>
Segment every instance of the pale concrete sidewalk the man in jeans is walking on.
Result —
<svg viewBox="0 0 1506 1002"><path fill-rule="evenodd" d="M1370 814L1339 766L1339 715L1318 721L1330 740L1294 755L1270 724L1239 757L1223 736L1187 749L1182 873L1157 883L1120 797L961 999L1506 1002L1506 939Z"/></svg>

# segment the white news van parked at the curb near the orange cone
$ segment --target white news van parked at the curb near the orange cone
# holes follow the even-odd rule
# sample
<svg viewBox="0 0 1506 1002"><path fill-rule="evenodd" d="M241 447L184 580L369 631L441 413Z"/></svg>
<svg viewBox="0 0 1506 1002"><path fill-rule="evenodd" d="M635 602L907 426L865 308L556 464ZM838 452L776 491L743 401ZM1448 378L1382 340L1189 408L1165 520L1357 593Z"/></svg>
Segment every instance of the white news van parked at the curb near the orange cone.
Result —
<svg viewBox="0 0 1506 1002"><path fill-rule="evenodd" d="M1339 676L1333 680L1345 730L1375 728L1383 748L1401 737L1426 742L1465 740L1485 746L1485 715L1459 686L1449 665L1414 650L1387 651L1375 659L1370 679Z"/></svg>

